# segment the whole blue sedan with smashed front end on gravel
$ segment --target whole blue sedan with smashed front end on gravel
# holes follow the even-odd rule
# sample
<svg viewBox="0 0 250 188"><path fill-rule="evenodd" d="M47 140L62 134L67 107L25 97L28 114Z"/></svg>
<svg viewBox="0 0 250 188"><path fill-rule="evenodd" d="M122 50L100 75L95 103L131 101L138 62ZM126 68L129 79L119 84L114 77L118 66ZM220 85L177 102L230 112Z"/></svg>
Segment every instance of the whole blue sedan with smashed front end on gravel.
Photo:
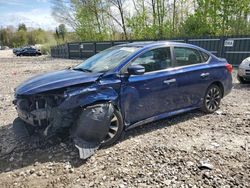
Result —
<svg viewBox="0 0 250 188"><path fill-rule="evenodd" d="M114 46L23 82L15 89L15 121L29 135L67 132L86 159L133 127L198 108L215 112L231 91L231 73L225 59L190 44Z"/></svg>

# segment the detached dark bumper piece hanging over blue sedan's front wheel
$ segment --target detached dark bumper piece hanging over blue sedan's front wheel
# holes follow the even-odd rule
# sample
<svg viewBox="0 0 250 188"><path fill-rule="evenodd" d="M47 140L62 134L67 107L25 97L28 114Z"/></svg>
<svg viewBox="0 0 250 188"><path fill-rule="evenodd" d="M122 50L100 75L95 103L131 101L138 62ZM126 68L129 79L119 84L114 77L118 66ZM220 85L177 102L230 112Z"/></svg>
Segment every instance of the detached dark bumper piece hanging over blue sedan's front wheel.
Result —
<svg viewBox="0 0 250 188"><path fill-rule="evenodd" d="M71 133L81 159L87 159L101 146L108 134L113 112L111 103L89 106L82 110Z"/></svg>

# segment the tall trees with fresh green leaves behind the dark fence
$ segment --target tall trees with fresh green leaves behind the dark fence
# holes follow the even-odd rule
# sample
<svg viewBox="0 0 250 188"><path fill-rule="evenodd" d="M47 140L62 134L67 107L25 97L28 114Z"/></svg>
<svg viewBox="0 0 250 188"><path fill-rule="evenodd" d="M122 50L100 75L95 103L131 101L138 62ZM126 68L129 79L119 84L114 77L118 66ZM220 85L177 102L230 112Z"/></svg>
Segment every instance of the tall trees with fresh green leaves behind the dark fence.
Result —
<svg viewBox="0 0 250 188"><path fill-rule="evenodd" d="M81 40L249 35L250 0L52 0Z"/></svg>

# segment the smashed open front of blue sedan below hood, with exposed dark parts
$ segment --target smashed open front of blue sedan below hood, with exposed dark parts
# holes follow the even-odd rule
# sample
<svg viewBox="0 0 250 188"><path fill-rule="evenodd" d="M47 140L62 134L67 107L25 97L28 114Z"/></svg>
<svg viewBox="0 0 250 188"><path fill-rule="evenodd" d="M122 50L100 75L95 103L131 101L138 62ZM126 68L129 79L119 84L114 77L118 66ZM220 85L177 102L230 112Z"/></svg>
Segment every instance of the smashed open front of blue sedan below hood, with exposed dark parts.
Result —
<svg viewBox="0 0 250 188"><path fill-rule="evenodd" d="M70 127L74 122L73 111L59 109L59 100L55 97L17 98L13 103L23 121L40 130L47 129L44 132L45 136L48 128L57 130L61 127Z"/></svg>

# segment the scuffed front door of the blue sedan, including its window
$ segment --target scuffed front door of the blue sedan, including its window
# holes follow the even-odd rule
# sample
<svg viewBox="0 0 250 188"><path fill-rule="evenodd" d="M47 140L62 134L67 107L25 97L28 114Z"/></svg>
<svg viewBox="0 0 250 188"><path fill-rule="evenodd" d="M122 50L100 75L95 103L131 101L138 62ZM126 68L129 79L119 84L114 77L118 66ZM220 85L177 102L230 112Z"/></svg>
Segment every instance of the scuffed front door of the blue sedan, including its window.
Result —
<svg viewBox="0 0 250 188"><path fill-rule="evenodd" d="M130 63L144 66L145 73L122 77L121 106L127 124L175 108L172 101L178 91L172 61L170 47L161 47L142 53Z"/></svg>

